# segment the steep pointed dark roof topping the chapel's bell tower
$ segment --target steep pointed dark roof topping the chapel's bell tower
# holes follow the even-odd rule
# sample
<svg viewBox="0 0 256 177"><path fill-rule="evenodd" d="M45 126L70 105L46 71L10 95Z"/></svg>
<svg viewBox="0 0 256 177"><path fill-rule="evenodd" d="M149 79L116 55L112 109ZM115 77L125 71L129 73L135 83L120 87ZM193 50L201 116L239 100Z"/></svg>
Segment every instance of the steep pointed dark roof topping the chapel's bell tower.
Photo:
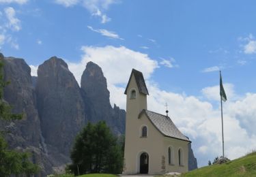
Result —
<svg viewBox="0 0 256 177"><path fill-rule="evenodd" d="M132 74L134 74L134 78L135 78L137 86L139 88L139 93L143 93L145 95L149 95L149 93L147 91L147 86L145 84L145 80L143 78L143 74L142 74L141 71L137 71L136 69L132 69L132 73L130 74L130 78L129 78L128 84L126 86L126 91L124 91L124 94L127 95L127 89L128 89L129 84L130 84L130 80L132 78Z"/></svg>

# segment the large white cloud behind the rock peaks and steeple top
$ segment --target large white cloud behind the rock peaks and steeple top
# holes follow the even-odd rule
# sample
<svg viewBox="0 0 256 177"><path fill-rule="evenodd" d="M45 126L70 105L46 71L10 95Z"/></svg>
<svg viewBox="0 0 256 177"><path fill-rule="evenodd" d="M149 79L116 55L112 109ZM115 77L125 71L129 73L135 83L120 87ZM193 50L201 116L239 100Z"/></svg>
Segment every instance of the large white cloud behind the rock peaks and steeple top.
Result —
<svg viewBox="0 0 256 177"><path fill-rule="evenodd" d="M85 65L89 61L102 67L109 84L126 84L132 68L143 71L144 77L149 78L154 69L158 67L157 61L150 59L147 54L130 50L124 46L82 46L81 50L84 52L81 62L69 63L70 71L74 72L79 83Z"/></svg>

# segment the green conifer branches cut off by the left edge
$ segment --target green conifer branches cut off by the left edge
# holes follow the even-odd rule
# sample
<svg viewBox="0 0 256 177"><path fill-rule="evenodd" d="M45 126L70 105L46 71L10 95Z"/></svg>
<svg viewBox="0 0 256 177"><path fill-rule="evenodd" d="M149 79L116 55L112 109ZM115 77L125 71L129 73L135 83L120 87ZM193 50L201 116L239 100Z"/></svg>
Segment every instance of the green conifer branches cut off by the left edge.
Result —
<svg viewBox="0 0 256 177"><path fill-rule="evenodd" d="M3 79L3 55L0 53L0 120L20 120L23 114L12 114L12 107L3 99L3 88L9 84ZM3 138L4 131L0 131L0 176L10 174L37 173L40 168L29 161L29 153L8 149L8 143Z"/></svg>

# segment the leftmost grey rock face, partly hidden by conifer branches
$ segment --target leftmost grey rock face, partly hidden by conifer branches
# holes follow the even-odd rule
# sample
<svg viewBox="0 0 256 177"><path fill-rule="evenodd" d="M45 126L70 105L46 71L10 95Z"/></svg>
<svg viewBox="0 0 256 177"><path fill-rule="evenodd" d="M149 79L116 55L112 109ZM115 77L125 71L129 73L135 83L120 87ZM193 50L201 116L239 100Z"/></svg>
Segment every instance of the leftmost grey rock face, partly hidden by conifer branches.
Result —
<svg viewBox="0 0 256 177"><path fill-rule="evenodd" d="M4 79L10 81L4 89L4 99L12 105L12 112L24 114L23 120L1 121L1 129L10 131L6 137L10 148L31 152L32 161L40 164L42 168L38 176L45 176L52 167L42 146L40 118L36 108L30 67L23 59L12 57L3 59L3 55L0 55L0 60L4 63Z"/></svg>

